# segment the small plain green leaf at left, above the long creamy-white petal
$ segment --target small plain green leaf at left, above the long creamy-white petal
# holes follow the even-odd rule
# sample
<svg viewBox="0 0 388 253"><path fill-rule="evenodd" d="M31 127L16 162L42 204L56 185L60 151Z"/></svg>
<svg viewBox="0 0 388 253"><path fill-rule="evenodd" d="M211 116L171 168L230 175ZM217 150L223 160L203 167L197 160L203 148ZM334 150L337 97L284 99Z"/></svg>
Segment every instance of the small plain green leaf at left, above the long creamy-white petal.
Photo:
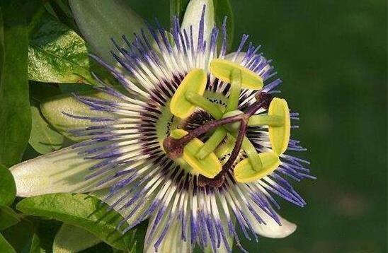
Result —
<svg viewBox="0 0 388 253"><path fill-rule="evenodd" d="M64 138L43 119L38 102L31 102L31 117L33 124L28 143L35 151L45 154L61 148Z"/></svg>

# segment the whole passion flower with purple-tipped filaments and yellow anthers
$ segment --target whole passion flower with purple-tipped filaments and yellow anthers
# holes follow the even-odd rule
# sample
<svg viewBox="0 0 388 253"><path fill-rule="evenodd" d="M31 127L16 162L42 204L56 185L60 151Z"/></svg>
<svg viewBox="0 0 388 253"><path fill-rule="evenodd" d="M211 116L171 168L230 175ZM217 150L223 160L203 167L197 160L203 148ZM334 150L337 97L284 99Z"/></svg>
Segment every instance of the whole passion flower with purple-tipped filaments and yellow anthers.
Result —
<svg viewBox="0 0 388 253"><path fill-rule="evenodd" d="M293 233L273 195L306 204L286 180L312 177L286 154L303 150L290 139L298 114L273 97L281 81L260 47L244 35L227 54L226 19L209 26L206 10L191 1L171 33L149 26L125 47L113 41L129 74L92 56L122 89L96 77L105 95L75 94L97 112L62 112L93 123L69 129L84 141L12 167L18 195L91 192L122 214L123 233L149 218L145 252L231 252L233 240L244 250L237 227L249 240Z"/></svg>

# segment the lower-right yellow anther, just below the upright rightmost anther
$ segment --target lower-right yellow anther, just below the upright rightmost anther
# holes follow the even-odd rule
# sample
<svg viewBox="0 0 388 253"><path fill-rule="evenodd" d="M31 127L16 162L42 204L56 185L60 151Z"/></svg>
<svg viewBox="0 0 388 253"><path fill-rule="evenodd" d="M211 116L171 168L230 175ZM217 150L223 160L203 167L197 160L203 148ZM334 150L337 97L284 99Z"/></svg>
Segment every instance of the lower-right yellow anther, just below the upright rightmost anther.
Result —
<svg viewBox="0 0 388 253"><path fill-rule="evenodd" d="M234 167L234 178L237 182L248 183L260 180L263 177L270 175L280 165L279 156L273 152L266 152L258 154L258 157L263 164L260 171L253 169L250 159L246 158Z"/></svg>

